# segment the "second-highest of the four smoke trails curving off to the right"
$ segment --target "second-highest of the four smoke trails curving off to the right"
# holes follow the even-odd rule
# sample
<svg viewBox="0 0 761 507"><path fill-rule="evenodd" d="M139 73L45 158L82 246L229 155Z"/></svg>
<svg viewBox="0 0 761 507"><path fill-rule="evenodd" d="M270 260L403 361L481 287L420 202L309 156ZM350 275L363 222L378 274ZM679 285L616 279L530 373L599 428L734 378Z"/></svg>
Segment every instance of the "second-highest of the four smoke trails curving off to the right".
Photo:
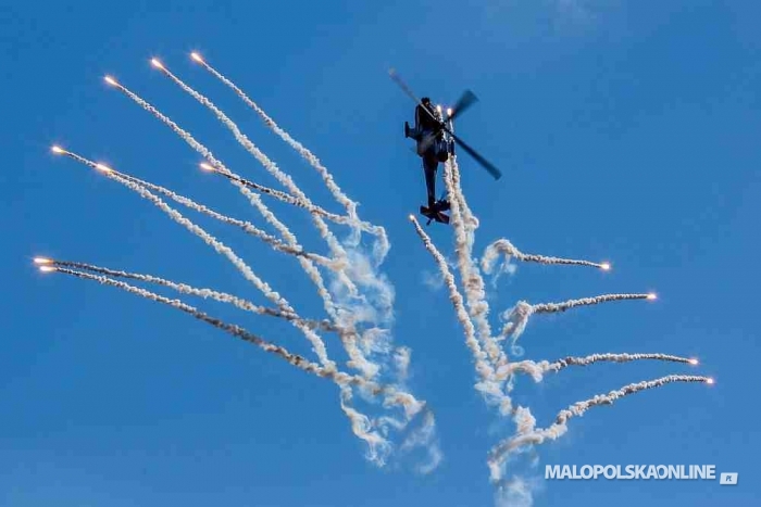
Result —
<svg viewBox="0 0 761 507"><path fill-rule="evenodd" d="M513 354L521 355L522 350L516 346L517 339L526 329L528 318L534 314L553 314L565 312L578 306L590 306L613 301L626 300L653 300L656 294L602 294L595 297L582 297L578 300L569 300L562 303L538 303L529 304L525 301L519 301L515 306L506 310L500 316L504 320L502 332L497 337L498 341L510 337L511 348Z"/></svg>

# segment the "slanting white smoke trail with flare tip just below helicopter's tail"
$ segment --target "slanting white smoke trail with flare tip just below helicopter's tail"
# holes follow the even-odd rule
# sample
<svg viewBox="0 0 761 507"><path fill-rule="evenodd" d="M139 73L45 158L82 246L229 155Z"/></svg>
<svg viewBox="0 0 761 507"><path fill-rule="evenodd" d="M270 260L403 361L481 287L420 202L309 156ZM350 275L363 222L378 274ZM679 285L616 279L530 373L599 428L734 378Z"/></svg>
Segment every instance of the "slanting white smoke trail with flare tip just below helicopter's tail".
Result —
<svg viewBox="0 0 761 507"><path fill-rule="evenodd" d="M436 261L436 264L438 265L438 268L441 271L441 276L444 277L444 281L447 284L447 288L449 289L449 300L452 302L457 318L458 320L460 320L460 324L462 325L462 328L465 331L465 344L473 354L476 371L481 377L481 382L478 384L479 390L486 394L489 394L492 397L502 398L502 393L499 390L499 384L495 382L494 368L491 367L491 365L489 365L488 356L486 355L486 353L484 353L481 344L478 343L478 340L476 340L475 327L473 326L473 321L467 315L467 310L465 309L462 295L460 294L460 291L457 287L457 282L454 281L454 276L449 270L447 259L444 258L444 255L441 255L434 242L431 240L428 235L425 233L420 223L413 215L410 215L410 221L415 227L415 231L417 232L420 239L423 240L423 245L425 246L425 250L427 250ZM509 406L504 406L503 409L509 410Z"/></svg>

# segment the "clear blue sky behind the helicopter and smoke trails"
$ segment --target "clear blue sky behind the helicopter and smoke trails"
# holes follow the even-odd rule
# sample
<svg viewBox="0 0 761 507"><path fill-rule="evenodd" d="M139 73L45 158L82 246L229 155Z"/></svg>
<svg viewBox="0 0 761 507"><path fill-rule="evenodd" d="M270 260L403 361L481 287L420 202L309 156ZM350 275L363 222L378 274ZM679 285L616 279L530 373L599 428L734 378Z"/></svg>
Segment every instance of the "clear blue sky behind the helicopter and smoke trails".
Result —
<svg viewBox="0 0 761 507"><path fill-rule="evenodd" d="M506 237L525 252L613 263L608 274L519 265L489 294L494 314L521 299L660 295L652 304L536 317L521 339L527 357L701 358L698 369L599 365L539 385L521 379L516 400L532 406L539 426L575 401L628 382L671 372L718 380L590 410L563 439L539 447L540 464L715 464L739 472L739 485L539 480L536 505L740 506L758 498L761 8L479 3L0 8L3 505L494 502L486 452L510 428L472 389L471 356L447 294L425 283L435 266L406 220L424 192L420 162L401 135L412 104L388 79L389 66L437 101L453 101L466 87L481 98L458 131L504 177L495 183L460 161L481 218L478 252ZM367 464L328 382L164 306L30 266L32 256L47 254L252 294L223 258L147 202L50 154L59 142L252 218L236 192L196 168L195 152L103 84L112 73L238 173L267 181L208 111L150 68L151 56L209 94L310 195L333 205L307 164L189 61L191 50L313 149L361 203L362 216L386 227L395 340L412 348L410 386L437 416L445 459L434 473ZM303 217L282 210L316 249ZM210 230L252 256L273 284L294 291L304 313L319 315L292 265L235 231ZM448 229L429 232L452 253ZM271 320L204 307L278 341L282 327ZM283 340L307 350L292 337Z"/></svg>

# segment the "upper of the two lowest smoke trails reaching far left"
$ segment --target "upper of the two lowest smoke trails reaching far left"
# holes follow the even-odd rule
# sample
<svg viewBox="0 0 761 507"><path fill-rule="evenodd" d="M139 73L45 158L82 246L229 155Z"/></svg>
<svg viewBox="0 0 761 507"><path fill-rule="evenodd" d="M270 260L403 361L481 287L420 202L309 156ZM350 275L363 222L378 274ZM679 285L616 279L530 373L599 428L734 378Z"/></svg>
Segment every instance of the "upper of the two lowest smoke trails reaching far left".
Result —
<svg viewBox="0 0 761 507"><path fill-rule="evenodd" d="M107 267L102 266L96 266L93 264L88 264L88 263L80 263L80 262L73 262L73 261L59 261L55 258L46 258L43 262L39 262L38 264L41 265L50 265L50 266L57 266L57 267L71 267L71 268L76 268L76 269L82 269L85 271L91 271L91 272L97 272L99 275L104 275L113 278L126 278L130 280L139 280L144 281L146 283L153 283L157 286L162 286L170 288L174 291L177 291L182 294L188 294L188 295L196 295L199 297L203 299L212 299L214 301L219 301L221 303L227 303L232 304L233 306L236 306L237 308L240 308L246 312L251 312L257 315L267 315L272 317L279 317L286 320L294 320L298 321L304 326L308 326L312 329L322 329L324 331L332 331L332 332L340 332L341 329L338 328L337 326L333 325L328 320L312 320L312 319L303 319L299 317L298 315L294 313L288 313L284 312L282 309L277 308L271 308L267 306L260 306L257 305L248 300L245 300L242 297L238 297L233 294L228 294L226 292L220 292L215 291L212 289L199 289L192 286L189 286L187 283L180 283L180 282L175 282L172 280L167 280L165 278L157 277L153 275L146 275L141 272L130 272L130 271L123 271L118 269L110 269Z"/></svg>

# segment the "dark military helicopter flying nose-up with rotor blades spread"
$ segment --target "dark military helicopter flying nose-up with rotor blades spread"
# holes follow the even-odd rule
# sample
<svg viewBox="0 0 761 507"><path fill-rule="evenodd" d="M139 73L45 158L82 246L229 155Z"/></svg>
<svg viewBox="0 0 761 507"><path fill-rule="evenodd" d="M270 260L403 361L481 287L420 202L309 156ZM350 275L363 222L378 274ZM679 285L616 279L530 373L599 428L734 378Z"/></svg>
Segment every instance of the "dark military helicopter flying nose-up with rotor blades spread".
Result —
<svg viewBox="0 0 761 507"><path fill-rule="evenodd" d="M477 102L478 98L471 90L465 90L454 106L447 109L445 117L441 106L434 106L429 98L424 97L419 100L399 77L396 69L389 69L389 76L417 104L415 106L415 125L410 127L410 124L404 122L404 137L415 141L415 153L423 160L427 206L420 206L420 213L428 218L426 225L431 225L434 220L440 224L449 224L449 216L444 213L450 208L448 199L444 195L438 200L436 199L436 174L438 164L447 162L450 156L454 155L456 144L470 154L495 179L499 179L502 176L502 173L494 164L484 159L453 132L453 119Z"/></svg>

